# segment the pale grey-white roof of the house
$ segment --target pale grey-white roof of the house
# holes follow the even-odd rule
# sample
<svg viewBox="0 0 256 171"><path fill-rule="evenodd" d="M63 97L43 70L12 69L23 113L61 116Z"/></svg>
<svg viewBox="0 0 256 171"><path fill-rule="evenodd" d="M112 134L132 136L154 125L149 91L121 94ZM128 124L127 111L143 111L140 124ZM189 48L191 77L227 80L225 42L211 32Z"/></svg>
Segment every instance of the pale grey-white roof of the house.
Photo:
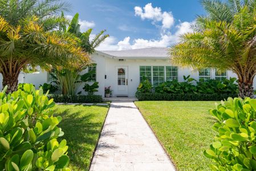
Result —
<svg viewBox="0 0 256 171"><path fill-rule="evenodd" d="M150 48L137 48L132 50L121 51L100 51L108 54L113 58L168 58L167 47L150 47Z"/></svg>

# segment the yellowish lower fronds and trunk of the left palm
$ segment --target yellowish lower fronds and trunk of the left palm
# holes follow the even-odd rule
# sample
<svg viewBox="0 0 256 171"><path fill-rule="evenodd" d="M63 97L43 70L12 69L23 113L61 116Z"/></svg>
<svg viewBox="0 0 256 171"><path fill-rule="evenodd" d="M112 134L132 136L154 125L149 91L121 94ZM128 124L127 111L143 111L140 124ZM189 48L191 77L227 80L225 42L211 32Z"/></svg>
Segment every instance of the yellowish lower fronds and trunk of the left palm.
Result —
<svg viewBox="0 0 256 171"><path fill-rule="evenodd" d="M0 73L7 92L17 89L19 73L27 67L76 67L90 60L76 38L45 31L38 21L24 18L13 26L0 16Z"/></svg>

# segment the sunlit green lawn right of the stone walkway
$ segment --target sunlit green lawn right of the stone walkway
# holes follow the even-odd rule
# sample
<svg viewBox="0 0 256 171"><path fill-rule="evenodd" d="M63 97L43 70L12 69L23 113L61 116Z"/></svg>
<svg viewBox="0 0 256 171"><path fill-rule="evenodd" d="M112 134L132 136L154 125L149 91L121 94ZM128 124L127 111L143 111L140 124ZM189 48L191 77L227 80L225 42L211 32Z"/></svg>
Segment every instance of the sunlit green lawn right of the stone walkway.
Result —
<svg viewBox="0 0 256 171"><path fill-rule="evenodd" d="M216 133L214 101L136 101L178 170L210 170L203 151Z"/></svg>

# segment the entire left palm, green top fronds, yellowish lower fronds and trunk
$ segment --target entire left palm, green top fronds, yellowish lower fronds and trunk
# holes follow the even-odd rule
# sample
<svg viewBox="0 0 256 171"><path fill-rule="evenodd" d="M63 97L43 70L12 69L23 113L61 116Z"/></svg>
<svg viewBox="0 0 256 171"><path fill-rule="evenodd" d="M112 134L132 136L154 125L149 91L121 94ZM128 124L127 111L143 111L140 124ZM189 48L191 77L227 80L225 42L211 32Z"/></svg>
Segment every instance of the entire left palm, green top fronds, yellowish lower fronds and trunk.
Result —
<svg viewBox="0 0 256 171"><path fill-rule="evenodd" d="M52 31L65 22L55 16L65 9L58 0L0 1L0 73L7 92L17 89L19 73L28 67L76 67L89 61L79 39Z"/></svg>

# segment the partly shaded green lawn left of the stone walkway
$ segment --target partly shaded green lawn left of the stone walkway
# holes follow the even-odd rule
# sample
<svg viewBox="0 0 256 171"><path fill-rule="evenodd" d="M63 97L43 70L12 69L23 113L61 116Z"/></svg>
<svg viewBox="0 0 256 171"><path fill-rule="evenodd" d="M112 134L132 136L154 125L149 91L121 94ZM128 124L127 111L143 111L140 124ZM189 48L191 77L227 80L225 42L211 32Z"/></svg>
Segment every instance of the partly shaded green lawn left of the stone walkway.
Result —
<svg viewBox="0 0 256 171"><path fill-rule="evenodd" d="M55 115L62 116L59 127L67 140L71 170L89 170L108 105L56 105Z"/></svg>

